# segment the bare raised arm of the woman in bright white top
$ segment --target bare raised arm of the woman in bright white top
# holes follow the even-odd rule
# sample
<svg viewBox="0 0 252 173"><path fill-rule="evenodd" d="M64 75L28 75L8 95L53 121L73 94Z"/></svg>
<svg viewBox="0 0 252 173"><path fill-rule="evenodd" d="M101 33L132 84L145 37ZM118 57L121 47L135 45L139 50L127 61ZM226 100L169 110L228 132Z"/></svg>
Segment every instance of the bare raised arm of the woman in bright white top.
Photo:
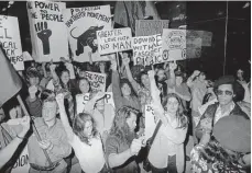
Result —
<svg viewBox="0 0 252 173"><path fill-rule="evenodd" d="M65 128L67 139L68 139L68 141L72 141L74 139L74 131L70 127L70 124L69 124L67 115L66 115L66 109L65 109L65 105L64 105L64 94L63 93L57 94L56 101L58 104L59 116L61 116L62 124Z"/></svg>

